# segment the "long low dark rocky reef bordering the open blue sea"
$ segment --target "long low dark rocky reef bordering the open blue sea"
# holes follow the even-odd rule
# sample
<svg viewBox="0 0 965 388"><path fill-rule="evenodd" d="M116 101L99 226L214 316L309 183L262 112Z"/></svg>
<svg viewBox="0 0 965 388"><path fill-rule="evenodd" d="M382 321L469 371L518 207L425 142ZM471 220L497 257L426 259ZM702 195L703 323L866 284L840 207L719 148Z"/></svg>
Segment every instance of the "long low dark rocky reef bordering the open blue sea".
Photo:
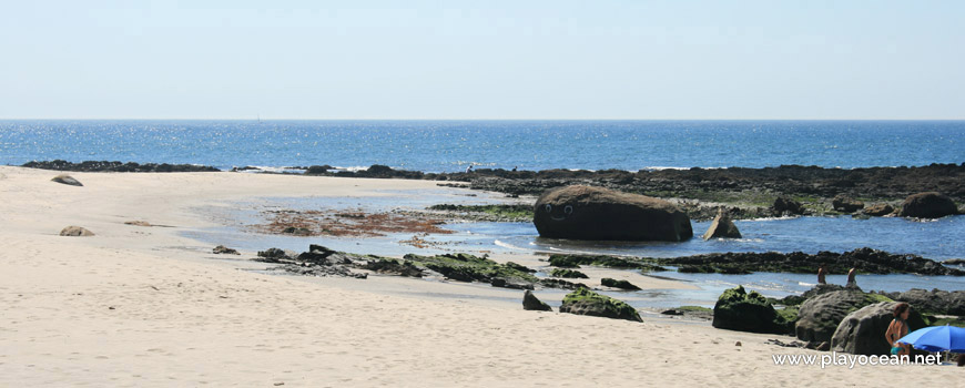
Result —
<svg viewBox="0 0 965 388"><path fill-rule="evenodd" d="M78 172L214 172L212 166L193 164L139 164L106 161L71 163L61 160L30 162L24 167ZM479 169L469 173L424 173L373 165L362 171L338 171L329 165L295 166L307 176L342 176L367 178L405 178L449 181L441 185L491 191L508 196L539 195L553 187L592 185L626 193L663 198L680 198L681 207L692 219L710 219L717 208L727 205L733 219L772 217L789 214L775 206L776 200L800 203L790 214L846 214L835 208L835 197L849 197L868 203L868 208L897 205L908 195L938 192L959 206L965 203L965 163L926 166L825 169L819 166L782 165L764 169L699 169L629 172L602 171L507 171ZM255 171L257 167L235 167L232 171ZM271 173L271 172L263 172ZM872 204L872 202L874 202ZM962 211L959 211L961 213ZM883 215L871 211L860 216Z"/></svg>

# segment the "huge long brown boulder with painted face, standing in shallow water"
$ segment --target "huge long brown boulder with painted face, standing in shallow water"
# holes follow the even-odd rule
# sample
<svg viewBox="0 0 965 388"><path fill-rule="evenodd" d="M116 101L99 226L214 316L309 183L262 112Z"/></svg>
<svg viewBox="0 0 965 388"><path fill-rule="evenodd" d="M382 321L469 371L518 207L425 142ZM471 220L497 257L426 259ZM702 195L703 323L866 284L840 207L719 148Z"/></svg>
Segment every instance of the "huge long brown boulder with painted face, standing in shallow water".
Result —
<svg viewBox="0 0 965 388"><path fill-rule="evenodd" d="M548 238L680 242L693 236L690 218L667 201L591 186L542 194L532 223Z"/></svg>

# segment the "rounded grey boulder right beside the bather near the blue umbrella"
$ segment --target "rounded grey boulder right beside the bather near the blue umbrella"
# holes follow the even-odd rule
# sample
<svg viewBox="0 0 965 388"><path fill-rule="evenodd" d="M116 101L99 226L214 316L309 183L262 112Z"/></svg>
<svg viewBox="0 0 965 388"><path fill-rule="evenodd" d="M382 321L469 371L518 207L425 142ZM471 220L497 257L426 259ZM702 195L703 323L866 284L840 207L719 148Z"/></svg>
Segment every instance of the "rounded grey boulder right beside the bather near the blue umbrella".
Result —
<svg viewBox="0 0 965 388"><path fill-rule="evenodd" d="M885 340L885 331L894 319L897 302L878 302L849 314L835 329L831 338L831 349L853 355L887 355L891 350ZM925 320L912 308L908 314L908 333L923 328Z"/></svg>

